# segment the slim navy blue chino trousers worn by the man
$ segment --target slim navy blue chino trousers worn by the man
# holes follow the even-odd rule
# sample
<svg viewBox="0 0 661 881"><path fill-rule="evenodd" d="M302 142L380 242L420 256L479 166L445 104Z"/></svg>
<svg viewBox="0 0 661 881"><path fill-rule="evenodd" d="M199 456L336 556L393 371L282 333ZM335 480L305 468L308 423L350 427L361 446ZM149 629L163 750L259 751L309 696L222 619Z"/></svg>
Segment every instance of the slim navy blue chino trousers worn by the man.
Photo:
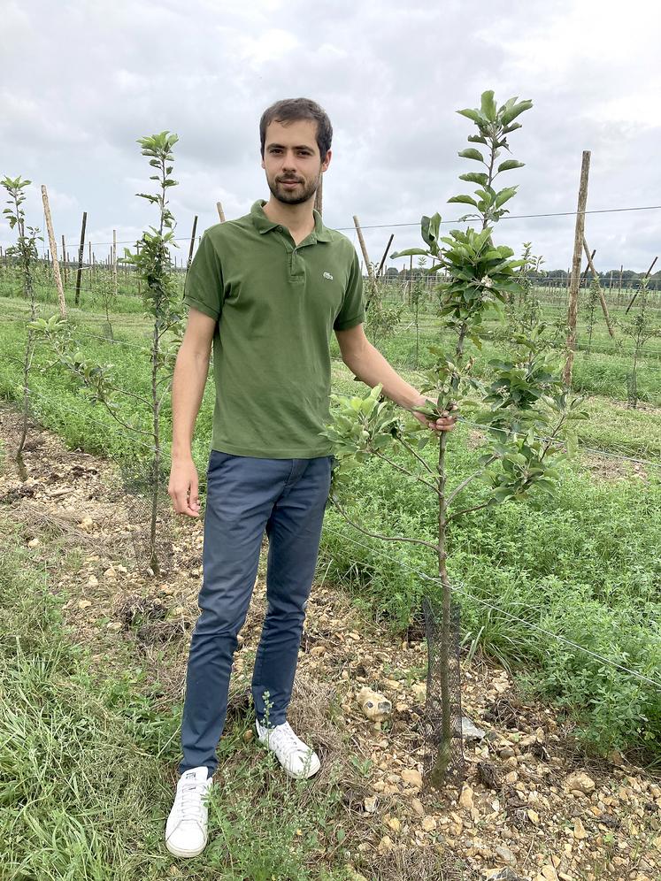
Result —
<svg viewBox="0 0 661 881"><path fill-rule="evenodd" d="M206 765L211 776L218 768L236 637L248 613L265 531L267 609L251 692L260 723L265 700L269 724L287 721L332 466L333 456L265 459L211 450L201 614L188 654L180 774Z"/></svg>

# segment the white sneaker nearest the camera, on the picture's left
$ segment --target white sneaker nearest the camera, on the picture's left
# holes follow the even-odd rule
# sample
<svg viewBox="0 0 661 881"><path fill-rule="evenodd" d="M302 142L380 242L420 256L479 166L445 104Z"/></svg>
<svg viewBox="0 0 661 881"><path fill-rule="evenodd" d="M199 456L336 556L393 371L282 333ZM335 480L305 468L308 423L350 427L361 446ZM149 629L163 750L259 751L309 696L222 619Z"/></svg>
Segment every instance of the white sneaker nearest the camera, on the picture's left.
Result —
<svg viewBox="0 0 661 881"><path fill-rule="evenodd" d="M212 779L206 765L184 771L165 824L165 847L175 856L197 856L206 847L209 811L204 796Z"/></svg>

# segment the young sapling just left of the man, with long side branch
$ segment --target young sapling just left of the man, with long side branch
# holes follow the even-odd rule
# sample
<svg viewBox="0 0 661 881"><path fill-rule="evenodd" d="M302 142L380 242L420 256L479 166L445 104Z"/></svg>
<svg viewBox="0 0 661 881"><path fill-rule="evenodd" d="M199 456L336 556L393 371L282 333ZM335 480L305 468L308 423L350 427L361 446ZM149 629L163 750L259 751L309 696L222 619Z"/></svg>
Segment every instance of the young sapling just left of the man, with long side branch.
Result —
<svg viewBox="0 0 661 881"><path fill-rule="evenodd" d="M184 332L184 314L176 280L170 247L174 238L174 217L168 208L168 190L177 185L173 172L173 147L176 134L161 132L140 138L142 156L149 157L156 173L150 180L157 181L155 193L138 193L158 209L158 226L150 226L139 240L137 254L125 249L124 261L135 266L142 281L142 300L147 314L153 320L150 346L150 396L137 395L111 382L112 364L97 364L88 359L73 343L71 328L65 321L53 316L48 321L33 322L35 330L50 341L58 361L70 370L88 389L92 402L104 405L119 425L135 435L136 449L147 449L147 455L137 452L139 467L149 473L147 491L150 495L150 526L147 564L158 575L162 568L158 560L158 501L162 487L167 484L164 471L164 450L161 440L160 418L172 388L177 351ZM105 284L105 282L104 282ZM113 282L109 280L112 286ZM107 317L107 312L106 312ZM132 417L125 417L118 398L128 397L135 408ZM150 422L150 427L144 427ZM169 507L169 506L168 506Z"/></svg>

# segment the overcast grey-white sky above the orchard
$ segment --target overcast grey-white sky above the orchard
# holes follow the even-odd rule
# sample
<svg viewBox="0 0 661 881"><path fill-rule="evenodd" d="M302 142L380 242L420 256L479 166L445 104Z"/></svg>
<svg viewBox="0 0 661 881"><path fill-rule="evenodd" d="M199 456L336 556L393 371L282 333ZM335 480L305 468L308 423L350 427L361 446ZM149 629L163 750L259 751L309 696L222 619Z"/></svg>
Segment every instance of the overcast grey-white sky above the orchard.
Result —
<svg viewBox="0 0 661 881"><path fill-rule="evenodd" d="M575 211L583 149L588 210L661 204L660 10L653 0L2 0L0 175L33 181L35 226L47 185L72 257L82 211L91 241L111 241L113 228L135 241L155 220L135 197L150 183L135 141L168 129L180 138L170 193L186 237L195 214L198 233L218 222L218 200L233 218L268 197L259 117L282 97L311 97L334 126L324 220L385 225L365 229L374 261L391 231L394 249L419 245L422 214L461 216L447 199L470 192L457 175L478 166L457 157L474 128L456 111L494 88L498 103L534 102L511 135L526 167L498 179L519 184L512 214ZM661 252L661 211L588 215L586 237L597 269L641 272ZM0 223L0 243L11 241ZM517 251L533 241L547 268L566 267L573 218L503 220L496 241Z"/></svg>

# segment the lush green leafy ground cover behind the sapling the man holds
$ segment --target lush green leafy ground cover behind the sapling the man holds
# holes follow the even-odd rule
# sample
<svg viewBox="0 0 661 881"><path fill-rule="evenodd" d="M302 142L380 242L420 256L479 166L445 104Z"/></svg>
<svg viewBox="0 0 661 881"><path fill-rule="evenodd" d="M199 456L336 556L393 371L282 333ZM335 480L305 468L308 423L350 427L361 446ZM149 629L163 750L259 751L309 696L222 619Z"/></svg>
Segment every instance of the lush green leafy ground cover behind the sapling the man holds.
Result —
<svg viewBox="0 0 661 881"><path fill-rule="evenodd" d="M470 440L465 429L456 429L450 490L474 470ZM433 465L434 453L427 450ZM465 492L462 506L480 502L474 484ZM373 460L357 470L352 497L351 518L365 530L435 539L431 494L399 479L387 464ZM565 708L586 744L602 750L635 746L661 755L661 691L554 634L658 679L660 509L661 471L651 469L645 485L629 478L595 481L574 463L565 467L556 502L532 495L478 511L450 532L450 581L465 641L477 640L484 652L517 670L530 692ZM396 628L419 617L425 592L438 592L419 575L437 576L430 551L368 537L334 509L327 511L322 563L361 608Z"/></svg>

